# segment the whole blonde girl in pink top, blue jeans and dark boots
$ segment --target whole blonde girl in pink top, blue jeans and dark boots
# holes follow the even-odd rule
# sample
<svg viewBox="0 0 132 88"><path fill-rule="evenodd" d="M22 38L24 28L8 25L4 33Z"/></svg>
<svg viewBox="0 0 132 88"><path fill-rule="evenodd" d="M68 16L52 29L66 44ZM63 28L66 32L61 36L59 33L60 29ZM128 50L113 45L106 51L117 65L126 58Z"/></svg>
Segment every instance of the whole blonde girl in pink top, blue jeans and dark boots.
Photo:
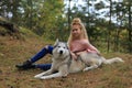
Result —
<svg viewBox="0 0 132 88"><path fill-rule="evenodd" d="M75 18L70 26L72 31L67 43L74 59L77 59L77 56L81 52L100 54L99 51L89 43L86 29L79 18ZM34 63L44 57L46 54L52 54L52 51L53 46L47 45L31 59L24 62L23 64L15 65L15 67L19 69L41 68L47 70L51 68L52 66L51 64L34 64Z"/></svg>

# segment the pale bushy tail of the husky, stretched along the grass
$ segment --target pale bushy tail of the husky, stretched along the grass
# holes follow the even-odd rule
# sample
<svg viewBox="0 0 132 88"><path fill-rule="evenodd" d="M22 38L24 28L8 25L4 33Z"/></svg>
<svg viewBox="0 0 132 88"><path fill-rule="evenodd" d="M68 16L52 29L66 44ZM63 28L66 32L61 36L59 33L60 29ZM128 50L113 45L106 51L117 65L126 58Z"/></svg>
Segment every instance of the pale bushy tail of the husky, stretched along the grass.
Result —
<svg viewBox="0 0 132 88"><path fill-rule="evenodd" d="M114 57L114 58L110 58L110 59L106 59L105 57L102 57L102 63L103 64L112 64L112 63L124 63L124 61L120 57Z"/></svg>

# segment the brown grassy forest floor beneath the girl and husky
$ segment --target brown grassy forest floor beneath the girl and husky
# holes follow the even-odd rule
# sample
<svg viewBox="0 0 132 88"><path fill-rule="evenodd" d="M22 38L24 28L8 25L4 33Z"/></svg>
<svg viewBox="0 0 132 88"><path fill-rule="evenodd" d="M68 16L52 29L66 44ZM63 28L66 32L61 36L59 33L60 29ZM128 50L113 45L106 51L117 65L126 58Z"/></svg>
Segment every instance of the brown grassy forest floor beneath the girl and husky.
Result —
<svg viewBox="0 0 132 88"><path fill-rule="evenodd" d="M132 88L132 55L102 53L106 58L121 57L125 63L102 65L101 67L66 78L35 79L41 69L18 70L15 65L37 53L48 42L38 37L13 40L0 36L0 88ZM37 63L51 63L51 55Z"/></svg>

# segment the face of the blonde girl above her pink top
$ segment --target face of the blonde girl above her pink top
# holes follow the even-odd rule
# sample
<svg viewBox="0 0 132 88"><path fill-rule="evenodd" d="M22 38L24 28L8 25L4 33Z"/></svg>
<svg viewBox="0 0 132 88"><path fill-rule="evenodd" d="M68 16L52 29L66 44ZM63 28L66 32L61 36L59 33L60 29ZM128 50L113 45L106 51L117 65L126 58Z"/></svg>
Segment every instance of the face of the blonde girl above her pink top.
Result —
<svg viewBox="0 0 132 88"><path fill-rule="evenodd" d="M75 38L79 38L81 34L80 25L79 24L74 24L72 26L72 35Z"/></svg>

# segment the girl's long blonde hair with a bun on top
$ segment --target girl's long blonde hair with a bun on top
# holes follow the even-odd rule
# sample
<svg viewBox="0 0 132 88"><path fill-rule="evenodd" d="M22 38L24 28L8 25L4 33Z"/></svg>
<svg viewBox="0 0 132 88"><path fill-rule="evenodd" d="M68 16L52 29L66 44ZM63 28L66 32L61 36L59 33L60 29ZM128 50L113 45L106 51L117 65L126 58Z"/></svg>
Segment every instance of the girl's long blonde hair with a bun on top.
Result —
<svg viewBox="0 0 132 88"><path fill-rule="evenodd" d="M85 25L82 24L81 20L80 20L79 18L75 18L75 19L73 20L70 26L73 26L74 24L79 24L79 25L80 25L81 37L88 40L88 34L87 34L86 28L85 28ZM72 41L73 41L73 35L72 35L72 31L70 31L70 34L69 34L67 44L69 45Z"/></svg>

